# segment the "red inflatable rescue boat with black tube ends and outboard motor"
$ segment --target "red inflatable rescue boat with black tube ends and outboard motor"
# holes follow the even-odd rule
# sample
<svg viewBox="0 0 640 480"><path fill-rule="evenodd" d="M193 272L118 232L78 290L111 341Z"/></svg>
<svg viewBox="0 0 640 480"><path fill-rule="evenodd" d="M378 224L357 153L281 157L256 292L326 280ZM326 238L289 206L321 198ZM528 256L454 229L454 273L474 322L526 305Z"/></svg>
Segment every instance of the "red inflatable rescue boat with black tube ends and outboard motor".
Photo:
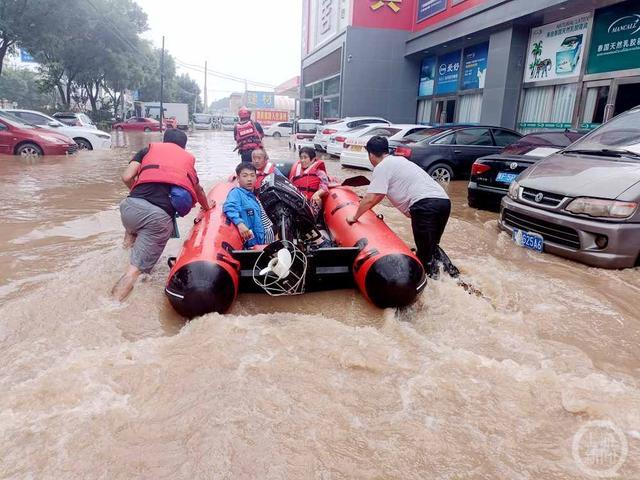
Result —
<svg viewBox="0 0 640 480"><path fill-rule="evenodd" d="M378 307L404 307L424 288L420 261L381 216L369 211L347 224L359 202L349 187L329 190L319 227L286 177L269 175L259 197L279 239L244 250L236 226L222 212L234 186L223 182L211 189L215 208L196 218L179 256L169 259L165 293L181 315L224 313L239 292L293 295L354 285Z"/></svg>

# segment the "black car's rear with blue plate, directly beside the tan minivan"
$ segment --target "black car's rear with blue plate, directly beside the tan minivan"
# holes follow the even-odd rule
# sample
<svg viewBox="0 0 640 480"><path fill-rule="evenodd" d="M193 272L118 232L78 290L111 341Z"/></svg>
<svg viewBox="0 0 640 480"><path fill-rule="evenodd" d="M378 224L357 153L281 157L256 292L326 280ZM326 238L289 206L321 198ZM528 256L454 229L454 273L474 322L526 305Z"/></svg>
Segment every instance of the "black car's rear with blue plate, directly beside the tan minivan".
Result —
<svg viewBox="0 0 640 480"><path fill-rule="evenodd" d="M467 199L472 208L500 208L502 197L520 173L544 157L568 147L584 133L539 132L525 135L501 153L481 157L471 166Z"/></svg>

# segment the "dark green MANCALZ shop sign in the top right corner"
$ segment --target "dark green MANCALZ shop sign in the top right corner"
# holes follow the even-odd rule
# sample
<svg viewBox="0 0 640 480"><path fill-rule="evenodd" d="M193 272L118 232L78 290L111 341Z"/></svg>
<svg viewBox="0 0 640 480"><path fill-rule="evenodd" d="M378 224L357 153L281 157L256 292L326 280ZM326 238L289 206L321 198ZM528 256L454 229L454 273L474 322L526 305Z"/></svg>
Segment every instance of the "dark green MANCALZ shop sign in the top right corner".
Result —
<svg viewBox="0 0 640 480"><path fill-rule="evenodd" d="M624 2L596 11L587 73L640 68L640 3Z"/></svg>

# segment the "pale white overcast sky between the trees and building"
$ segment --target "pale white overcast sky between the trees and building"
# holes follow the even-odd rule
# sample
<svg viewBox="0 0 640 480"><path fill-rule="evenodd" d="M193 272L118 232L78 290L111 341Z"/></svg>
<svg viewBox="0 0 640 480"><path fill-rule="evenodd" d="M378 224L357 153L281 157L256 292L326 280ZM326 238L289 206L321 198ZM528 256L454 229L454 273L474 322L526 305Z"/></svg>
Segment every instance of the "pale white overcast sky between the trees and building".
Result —
<svg viewBox="0 0 640 480"><path fill-rule="evenodd" d="M135 0L147 13L143 36L176 59L200 89L204 73L184 64L249 80L249 90L273 90L300 74L301 0ZM180 65L182 64L182 66ZM243 82L207 77L208 101L244 91Z"/></svg>

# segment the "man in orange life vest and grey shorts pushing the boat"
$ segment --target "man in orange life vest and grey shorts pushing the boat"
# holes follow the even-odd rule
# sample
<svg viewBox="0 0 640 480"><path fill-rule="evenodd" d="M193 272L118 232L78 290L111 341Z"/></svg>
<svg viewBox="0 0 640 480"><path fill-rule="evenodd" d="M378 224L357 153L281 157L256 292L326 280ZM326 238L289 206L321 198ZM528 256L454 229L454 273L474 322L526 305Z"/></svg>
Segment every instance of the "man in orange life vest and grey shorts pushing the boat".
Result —
<svg viewBox="0 0 640 480"><path fill-rule="evenodd" d="M111 293L124 300L141 273L149 273L173 234L177 210L182 215L200 203L203 210L215 206L207 200L195 170L195 158L185 150L187 135L169 129L163 143L152 143L133 157L122 174L130 189L120 203L125 247L132 247L130 265Z"/></svg>

